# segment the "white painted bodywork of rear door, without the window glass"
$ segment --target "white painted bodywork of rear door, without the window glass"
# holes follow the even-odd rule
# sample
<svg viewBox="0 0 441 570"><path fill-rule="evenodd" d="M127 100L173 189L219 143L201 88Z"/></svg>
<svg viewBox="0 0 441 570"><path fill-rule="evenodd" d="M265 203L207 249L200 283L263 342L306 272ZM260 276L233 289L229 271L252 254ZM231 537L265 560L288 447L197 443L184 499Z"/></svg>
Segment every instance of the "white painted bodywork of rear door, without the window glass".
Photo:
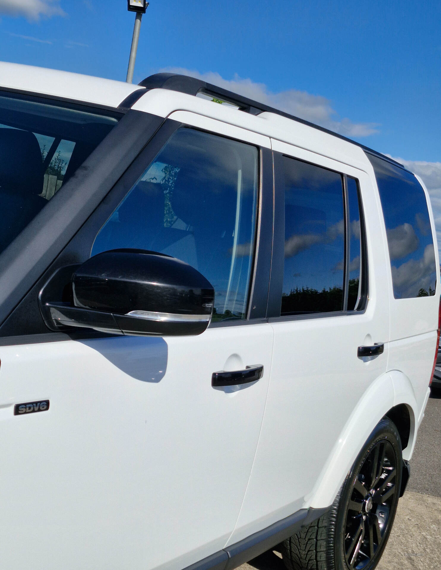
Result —
<svg viewBox="0 0 441 570"><path fill-rule="evenodd" d="M279 141L273 141L273 149L296 157L297 149ZM356 178L362 197L374 192L366 173L327 158L313 158L315 165ZM311 156L308 160L312 161ZM277 161L275 165L277 168ZM270 320L274 349L268 399L250 482L229 544L257 525L269 526L310 506L311 491L355 405L386 372L389 300L387 295L375 294L389 287L382 269L386 267L385 238L377 203L363 200L363 208L369 263L366 310ZM333 239L331 230L327 242ZM291 241L298 251L300 238ZM326 242L313 235L310 243L314 239ZM285 257L289 255L286 252L285 245ZM385 343L381 355L357 356L359 346L374 343Z"/></svg>

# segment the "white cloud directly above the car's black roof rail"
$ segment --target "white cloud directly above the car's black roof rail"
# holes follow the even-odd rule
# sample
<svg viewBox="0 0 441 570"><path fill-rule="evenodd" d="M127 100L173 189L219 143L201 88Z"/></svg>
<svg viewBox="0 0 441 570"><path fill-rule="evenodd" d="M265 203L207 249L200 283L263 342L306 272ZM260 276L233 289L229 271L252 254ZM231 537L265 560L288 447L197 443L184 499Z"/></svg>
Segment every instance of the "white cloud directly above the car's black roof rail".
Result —
<svg viewBox="0 0 441 570"><path fill-rule="evenodd" d="M254 99L260 103L276 107L281 111L300 117L331 129L349 137L366 137L377 133L378 124L374 123L353 123L349 119L340 119L331 106L331 101L320 95L311 95L306 91L288 89L279 93L273 93L264 83L256 83L251 79L242 79L237 74L233 79L224 79L218 73L190 71L181 67L165 68L161 71L190 75L197 79L202 79L207 83L228 89L244 95L249 99Z"/></svg>

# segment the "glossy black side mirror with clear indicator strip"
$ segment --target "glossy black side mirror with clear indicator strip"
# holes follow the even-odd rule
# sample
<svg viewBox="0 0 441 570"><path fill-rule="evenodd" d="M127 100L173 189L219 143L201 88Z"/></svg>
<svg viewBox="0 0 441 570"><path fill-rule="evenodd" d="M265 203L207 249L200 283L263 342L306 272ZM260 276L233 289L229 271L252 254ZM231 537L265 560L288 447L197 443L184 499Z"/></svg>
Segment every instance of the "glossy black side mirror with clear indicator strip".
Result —
<svg viewBox="0 0 441 570"><path fill-rule="evenodd" d="M39 295L50 328L86 327L117 335L200 335L208 327L215 291L187 263L143 250L105 251L76 268L71 302Z"/></svg>

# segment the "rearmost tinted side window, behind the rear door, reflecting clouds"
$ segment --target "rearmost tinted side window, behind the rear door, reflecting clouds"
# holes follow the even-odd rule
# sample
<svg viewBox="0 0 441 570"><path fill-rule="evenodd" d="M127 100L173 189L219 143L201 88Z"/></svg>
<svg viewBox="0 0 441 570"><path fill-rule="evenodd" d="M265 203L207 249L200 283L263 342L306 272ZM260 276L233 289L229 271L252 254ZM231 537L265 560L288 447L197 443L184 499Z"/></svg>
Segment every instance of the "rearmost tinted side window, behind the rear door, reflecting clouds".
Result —
<svg viewBox="0 0 441 570"><path fill-rule="evenodd" d="M424 191L410 172L367 156L374 167L385 218L394 297L435 295L434 242Z"/></svg>

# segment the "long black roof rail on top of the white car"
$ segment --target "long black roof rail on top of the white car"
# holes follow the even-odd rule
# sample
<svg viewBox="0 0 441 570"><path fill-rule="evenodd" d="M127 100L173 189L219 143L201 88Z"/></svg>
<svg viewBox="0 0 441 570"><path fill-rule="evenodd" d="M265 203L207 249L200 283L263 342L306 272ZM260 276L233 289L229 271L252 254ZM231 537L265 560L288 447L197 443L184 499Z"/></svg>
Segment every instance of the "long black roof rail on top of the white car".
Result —
<svg viewBox="0 0 441 570"><path fill-rule="evenodd" d="M308 125L308 127L313 127L318 131L322 131L328 135L333 135L334 137L338 137L339 139L360 146L363 150L366 150L366 152L374 154L374 156L378 156L379 158L383 158L383 160L387 160L387 162L391 162L400 168L404 168L402 164L395 161L393 158L389 158L388 156L385 156L384 154L381 154L376 150L369 148L369 146L357 143L348 137L339 135L334 131L326 129L325 127L320 127L319 125L310 123L305 119L300 119L300 117L289 115L289 113L280 111L280 109L269 107L269 105L265 105L264 103L258 103L258 101L253 101L252 99L248 99L248 97L238 95L238 93L233 93L232 91L228 91L222 87L217 87L212 83L207 83L202 79L196 79L188 75L180 75L175 73L157 73L143 79L138 85L147 89L170 89L171 91L179 91L180 93L187 93L187 95L195 96L198 93L207 93L207 95L212 95L213 97L222 99L227 103L237 105L241 111L245 111L251 115L260 115L260 113L263 112L276 113L276 115L281 115L282 117L286 117L286 119L292 119L293 121L297 121L297 123Z"/></svg>

